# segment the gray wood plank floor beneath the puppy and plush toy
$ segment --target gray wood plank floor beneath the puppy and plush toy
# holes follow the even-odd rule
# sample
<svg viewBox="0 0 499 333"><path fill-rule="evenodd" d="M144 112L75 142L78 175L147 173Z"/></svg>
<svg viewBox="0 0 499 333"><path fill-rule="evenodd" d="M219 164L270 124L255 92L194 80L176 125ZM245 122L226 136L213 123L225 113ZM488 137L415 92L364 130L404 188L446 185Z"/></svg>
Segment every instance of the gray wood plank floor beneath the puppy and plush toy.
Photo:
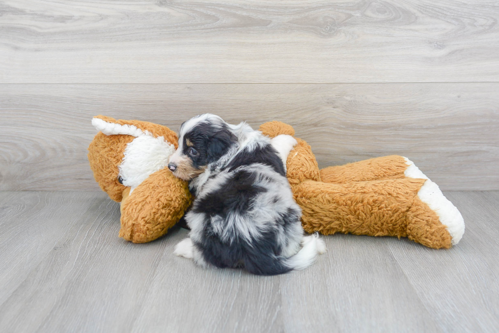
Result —
<svg viewBox="0 0 499 333"><path fill-rule="evenodd" d="M333 235L306 270L257 277L173 255L187 235L118 238L102 192L0 192L6 332L496 332L499 192L447 192L466 232L450 250Z"/></svg>

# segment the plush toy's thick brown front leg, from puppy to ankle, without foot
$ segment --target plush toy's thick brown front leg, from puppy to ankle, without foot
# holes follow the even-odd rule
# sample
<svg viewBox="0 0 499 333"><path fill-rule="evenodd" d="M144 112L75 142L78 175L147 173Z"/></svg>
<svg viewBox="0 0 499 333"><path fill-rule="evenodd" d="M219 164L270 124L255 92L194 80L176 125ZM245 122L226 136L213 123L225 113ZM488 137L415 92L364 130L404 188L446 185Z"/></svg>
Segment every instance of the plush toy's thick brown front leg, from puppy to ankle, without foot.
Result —
<svg viewBox="0 0 499 333"><path fill-rule="evenodd" d="M294 191L304 228L373 236L407 236L407 211L424 179L331 184L307 180Z"/></svg>

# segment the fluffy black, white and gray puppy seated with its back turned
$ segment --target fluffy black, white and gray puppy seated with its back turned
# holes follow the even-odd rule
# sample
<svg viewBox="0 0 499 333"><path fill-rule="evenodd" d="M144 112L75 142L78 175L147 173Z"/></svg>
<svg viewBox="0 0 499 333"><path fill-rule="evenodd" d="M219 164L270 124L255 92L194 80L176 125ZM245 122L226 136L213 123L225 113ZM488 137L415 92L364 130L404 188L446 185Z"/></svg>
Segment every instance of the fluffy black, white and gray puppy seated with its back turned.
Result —
<svg viewBox="0 0 499 333"><path fill-rule="evenodd" d="M175 254L204 267L245 267L258 275L309 266L325 246L318 235L303 236L285 171L295 144L289 135L271 140L213 114L182 124L168 167L190 181L195 200L185 215L189 238Z"/></svg>

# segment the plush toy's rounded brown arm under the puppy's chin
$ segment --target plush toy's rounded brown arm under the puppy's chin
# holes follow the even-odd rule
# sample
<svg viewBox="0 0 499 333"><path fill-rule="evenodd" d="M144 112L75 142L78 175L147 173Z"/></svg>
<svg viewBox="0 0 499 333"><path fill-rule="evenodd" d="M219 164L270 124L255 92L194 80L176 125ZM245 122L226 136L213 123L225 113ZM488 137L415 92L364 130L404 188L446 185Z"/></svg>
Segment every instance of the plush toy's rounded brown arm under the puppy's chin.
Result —
<svg viewBox="0 0 499 333"><path fill-rule="evenodd" d="M120 237L146 243L164 235L184 215L191 200L187 182L168 168L154 172L122 201Z"/></svg>

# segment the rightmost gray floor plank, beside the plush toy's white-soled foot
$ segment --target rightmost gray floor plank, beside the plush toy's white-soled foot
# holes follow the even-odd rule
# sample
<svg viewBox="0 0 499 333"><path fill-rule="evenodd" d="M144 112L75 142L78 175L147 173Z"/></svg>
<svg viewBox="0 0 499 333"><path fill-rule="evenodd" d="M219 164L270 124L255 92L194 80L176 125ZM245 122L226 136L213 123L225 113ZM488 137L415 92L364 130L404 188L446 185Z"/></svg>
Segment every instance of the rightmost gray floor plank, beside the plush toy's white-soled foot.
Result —
<svg viewBox="0 0 499 333"><path fill-rule="evenodd" d="M459 208L466 224L454 251L435 252L404 244L390 245L390 252L444 331L497 331L499 193L450 192L446 196Z"/></svg>

